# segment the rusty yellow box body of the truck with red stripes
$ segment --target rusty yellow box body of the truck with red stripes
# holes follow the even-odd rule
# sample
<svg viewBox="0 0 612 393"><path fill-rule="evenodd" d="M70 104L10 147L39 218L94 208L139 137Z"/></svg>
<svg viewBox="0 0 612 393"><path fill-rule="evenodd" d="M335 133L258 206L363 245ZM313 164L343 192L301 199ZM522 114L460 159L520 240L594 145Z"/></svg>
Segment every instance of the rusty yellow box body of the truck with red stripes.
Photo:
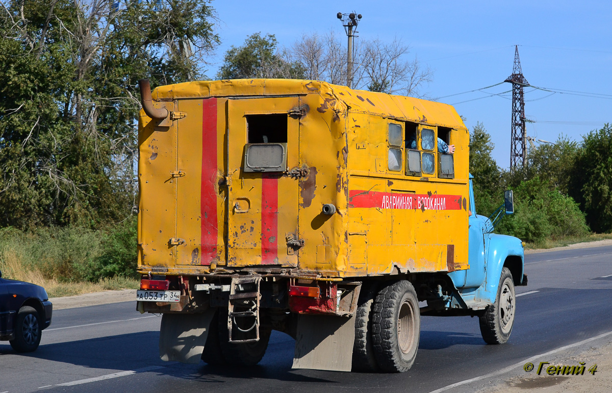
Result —
<svg viewBox="0 0 612 393"><path fill-rule="evenodd" d="M172 113L140 114L143 274L468 269L469 134L449 105L304 80L181 83L153 99ZM245 172L249 116L271 114L286 116L285 171ZM400 171L389 170L389 124L402 127ZM450 130L454 178L440 178L439 165L406 174L414 124L418 141L424 127Z"/></svg>

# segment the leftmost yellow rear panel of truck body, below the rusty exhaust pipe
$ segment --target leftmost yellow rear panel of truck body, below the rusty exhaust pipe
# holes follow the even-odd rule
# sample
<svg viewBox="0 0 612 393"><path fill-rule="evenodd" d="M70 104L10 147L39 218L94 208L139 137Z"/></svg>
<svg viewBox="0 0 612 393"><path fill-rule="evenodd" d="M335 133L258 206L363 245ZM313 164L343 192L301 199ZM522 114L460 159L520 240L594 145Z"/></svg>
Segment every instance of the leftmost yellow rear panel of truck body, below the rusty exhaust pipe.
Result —
<svg viewBox="0 0 612 393"><path fill-rule="evenodd" d="M141 266L174 266L176 247L176 122L155 127L141 111L138 133L138 244Z"/></svg>

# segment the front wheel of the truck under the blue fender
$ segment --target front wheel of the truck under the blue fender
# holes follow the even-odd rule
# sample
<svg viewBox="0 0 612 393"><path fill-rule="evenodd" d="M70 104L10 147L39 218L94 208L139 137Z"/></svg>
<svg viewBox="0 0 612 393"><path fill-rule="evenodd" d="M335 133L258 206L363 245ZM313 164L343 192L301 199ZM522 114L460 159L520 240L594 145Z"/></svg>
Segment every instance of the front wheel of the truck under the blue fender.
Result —
<svg viewBox="0 0 612 393"><path fill-rule="evenodd" d="M510 338L517 307L515 299L512 274L510 269L503 268L495 303L488 305L479 318L480 334L487 344L503 344Z"/></svg>

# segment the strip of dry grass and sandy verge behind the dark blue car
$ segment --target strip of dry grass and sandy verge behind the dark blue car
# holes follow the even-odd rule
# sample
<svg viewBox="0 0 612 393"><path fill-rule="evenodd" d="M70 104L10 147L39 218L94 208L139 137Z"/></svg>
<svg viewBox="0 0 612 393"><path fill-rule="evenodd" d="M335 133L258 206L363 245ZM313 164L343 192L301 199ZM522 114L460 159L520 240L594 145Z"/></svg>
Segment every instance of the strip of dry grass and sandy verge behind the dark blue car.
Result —
<svg viewBox="0 0 612 393"><path fill-rule="evenodd" d="M27 266L17 255L15 249L8 248L0 252L0 271L5 279L21 280L40 285L50 298L72 296L76 294L100 292L107 290L138 289L140 282L125 277L101 279L99 282L60 282L57 279L47 279L36 268Z"/></svg>

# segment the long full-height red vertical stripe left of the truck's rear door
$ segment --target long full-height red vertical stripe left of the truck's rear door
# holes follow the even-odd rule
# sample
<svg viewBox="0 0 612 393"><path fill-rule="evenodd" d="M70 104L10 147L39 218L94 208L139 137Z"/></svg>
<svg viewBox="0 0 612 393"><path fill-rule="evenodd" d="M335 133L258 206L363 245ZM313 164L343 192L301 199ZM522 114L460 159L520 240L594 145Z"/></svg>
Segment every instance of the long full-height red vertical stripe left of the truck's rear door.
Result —
<svg viewBox="0 0 612 393"><path fill-rule="evenodd" d="M202 101L201 264L217 256L217 99Z"/></svg>

